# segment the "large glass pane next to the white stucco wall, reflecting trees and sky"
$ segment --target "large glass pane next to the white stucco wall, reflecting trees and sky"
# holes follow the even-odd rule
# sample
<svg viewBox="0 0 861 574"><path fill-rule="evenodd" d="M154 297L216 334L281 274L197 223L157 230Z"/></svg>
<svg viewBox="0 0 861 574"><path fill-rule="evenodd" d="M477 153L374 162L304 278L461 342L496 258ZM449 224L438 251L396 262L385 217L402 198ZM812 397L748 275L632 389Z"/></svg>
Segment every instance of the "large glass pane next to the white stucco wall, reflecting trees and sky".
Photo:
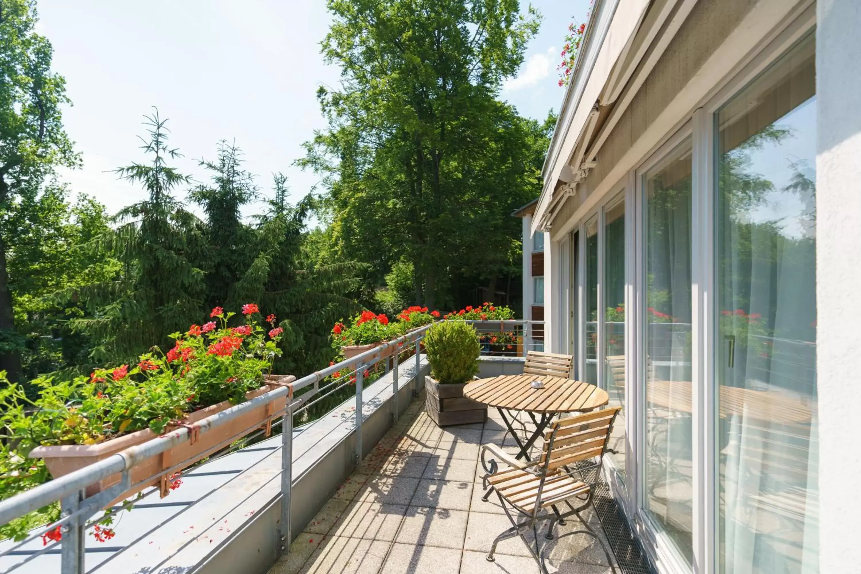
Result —
<svg viewBox="0 0 861 574"><path fill-rule="evenodd" d="M818 571L815 40L717 115L719 564Z"/></svg>

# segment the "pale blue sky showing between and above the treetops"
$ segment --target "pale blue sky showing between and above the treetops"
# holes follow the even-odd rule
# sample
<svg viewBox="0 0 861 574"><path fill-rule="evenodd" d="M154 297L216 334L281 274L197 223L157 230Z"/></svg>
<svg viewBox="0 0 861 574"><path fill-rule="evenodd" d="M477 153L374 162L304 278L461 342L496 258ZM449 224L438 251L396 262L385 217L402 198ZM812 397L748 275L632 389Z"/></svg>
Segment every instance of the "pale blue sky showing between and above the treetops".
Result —
<svg viewBox="0 0 861 574"><path fill-rule="evenodd" d="M582 21L588 0L533 5L541 30L500 97L543 119L561 102L555 67L567 24L572 15ZM338 68L319 54L330 22L323 0L39 0L38 8L37 29L53 43L53 68L73 102L65 127L84 158L83 168L61 174L73 192L110 213L144 197L108 170L142 159L136 136L152 106L170 118L169 143L185 155L178 167L195 180L208 177L197 160L228 139L245 151L263 194L276 171L288 175L294 200L319 182L292 164L325 127L318 86L338 84Z"/></svg>

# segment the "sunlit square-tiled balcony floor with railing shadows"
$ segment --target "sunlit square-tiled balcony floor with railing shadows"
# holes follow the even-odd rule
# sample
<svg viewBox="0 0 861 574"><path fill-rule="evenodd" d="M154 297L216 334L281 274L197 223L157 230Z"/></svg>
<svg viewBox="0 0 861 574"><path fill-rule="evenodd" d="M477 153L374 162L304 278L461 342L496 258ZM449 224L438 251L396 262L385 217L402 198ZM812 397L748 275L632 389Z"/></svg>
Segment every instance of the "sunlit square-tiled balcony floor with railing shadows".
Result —
<svg viewBox="0 0 861 574"><path fill-rule="evenodd" d="M269 574L538 572L519 537L499 544L495 562L485 559L492 540L511 526L499 498L481 501L479 447L499 443L505 429L495 410L489 415L484 424L440 429L419 398ZM577 524L570 520L559 532ZM598 544L585 535L554 543L548 568L610 572Z"/></svg>

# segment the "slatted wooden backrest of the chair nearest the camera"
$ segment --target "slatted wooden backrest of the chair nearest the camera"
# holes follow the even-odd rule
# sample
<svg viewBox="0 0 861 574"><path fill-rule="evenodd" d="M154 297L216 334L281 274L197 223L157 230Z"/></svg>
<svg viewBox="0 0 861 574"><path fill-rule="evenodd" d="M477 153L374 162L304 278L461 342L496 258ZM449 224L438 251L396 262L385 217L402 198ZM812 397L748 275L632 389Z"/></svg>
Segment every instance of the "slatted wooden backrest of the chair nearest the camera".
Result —
<svg viewBox="0 0 861 574"><path fill-rule="evenodd" d="M544 435L541 466L552 474L580 460L602 458L619 410L622 407L596 410L553 423Z"/></svg>

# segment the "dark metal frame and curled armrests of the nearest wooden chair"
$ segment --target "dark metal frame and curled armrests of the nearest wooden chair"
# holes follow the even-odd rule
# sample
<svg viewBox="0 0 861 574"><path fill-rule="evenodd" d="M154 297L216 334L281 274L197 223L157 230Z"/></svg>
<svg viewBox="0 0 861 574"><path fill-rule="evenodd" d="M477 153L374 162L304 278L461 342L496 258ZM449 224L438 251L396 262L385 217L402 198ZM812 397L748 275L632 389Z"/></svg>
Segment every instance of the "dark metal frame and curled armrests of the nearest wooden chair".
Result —
<svg viewBox="0 0 861 574"><path fill-rule="evenodd" d="M610 433L612 432L612 429L613 429L613 423L616 422L616 415L618 415L619 410L621 410L621 409L619 407L616 407L616 411L613 413L612 417L610 418L610 424L607 427L606 435L604 435L604 444L603 444L603 447L601 449L601 454L598 455L597 461L594 461L594 459L593 459L592 462L589 462L585 465L577 464L574 467L569 467L567 465L561 466L561 468L559 469L559 472L553 472L553 473L549 474L550 478L560 478L561 476L567 475L568 477L578 479L579 482L582 482L584 485L588 486L588 491L586 491L585 493L576 494L576 495L573 495L572 497L569 497L569 498L561 501L561 503L566 504L568 507L568 509L565 512L561 512L560 509L558 509L556 504L554 504L550 507L552 509L552 511L543 511L542 512L542 498L541 498L545 482L548 478L548 466L549 466L549 463L551 460L551 454L553 453L553 447L554 447L554 441L556 440L556 434L560 429L560 422L554 423L554 429L552 430L551 435L548 439L548 445L547 445L545 455L541 457L541 459L543 459L543 461L541 459L538 459L538 460L532 461L530 463L524 463L520 460L514 460L513 458L511 458L509 456L501 455L499 453L498 449L492 449L492 451L489 451L486 449L486 447L482 448L481 466L483 466L485 471L487 472L487 474L484 477L482 477L482 487L483 488L487 488L488 479L490 477L492 477L492 475L496 474L499 470L499 465L497 464L497 461L495 459L486 460L485 455L487 452L492 452L492 454L494 456L498 456L500 459L505 461L505 463L508 466L511 466L512 468L521 470L523 472L529 472L530 474L540 478L540 482L538 485L538 491L536 493L535 505L534 505L534 508L532 509L531 513L525 512L523 509L517 508L517 506L515 506L514 503L509 502L503 496L503 494L501 492L496 490L492 485L490 486L491 491L496 491L496 494L499 497L499 503L502 505L502 509L505 510L505 515L508 516L508 520L511 522L511 528L508 528L507 530L505 530L505 532L503 532L502 534L499 534L499 536L497 536L496 539L493 540L493 544L491 546L490 552L488 552L487 557L486 557L486 559L489 562L494 561L493 554L494 554L494 552L496 552L496 546L499 544L499 542L501 542L502 540L508 540L508 539L513 538L515 536L520 536L521 540L523 540L523 543L529 549L530 554L532 554L532 558L536 560L539 567L541 568L542 574L548 574L546 559L545 559L544 553L547 551L548 546L550 546L550 544L552 544L552 541L553 540L561 540L562 538L565 538L567 536L573 536L574 534L586 534L588 536L592 536L592 538L594 538L595 540L598 540L598 545L600 545L601 549L604 551L604 556L607 559L607 563L610 565L610 569L613 571L613 574L616 574L616 566L613 565L613 560L610 556L610 552L608 551L607 547L604 546L604 542L601 540L598 533L596 533L589 526L589 524L584 520L583 516L580 515L580 513L583 512L585 509L587 509L590 505L592 505L592 508L594 508L595 486L598 483L598 478L601 476L601 471L602 471L603 466L604 466L604 454L606 454L609 450L608 444L610 442ZM576 421L577 418L579 418L579 417L571 417L569 419L565 419L565 422L569 423L569 421L571 421L571 419L574 419ZM578 461L578 462L583 462L583 460ZM563 471L563 469L564 469L564 471ZM507 472L507 471L505 471L505 472ZM586 475L587 472L590 472L590 473L593 472L594 478L592 480L587 479L587 475ZM488 492L488 494L489 494L489 492ZM576 507L573 506L571 503L572 499L578 500L579 502L581 502L581 504L579 504L579 506L576 506ZM486 498L485 498L485 500L486 500ZM511 510L515 511L514 515L512 515L511 510L509 509L509 506L511 506ZM577 517L577 519L583 525L584 529L574 530L572 532L568 532L565 534L555 534L554 535L554 527L556 526L556 524L558 523L558 524L561 524L564 526L565 520L567 518L572 517L572 516ZM539 533L539 530L543 529L542 528L543 522L548 522L548 525L547 525L547 533L544 534L544 537L543 537L545 541L543 544L541 544L540 543L541 537L538 535L538 533ZM539 525L541 525L541 528L539 527ZM526 536L525 536L525 533L530 528L532 529L532 533L535 537L534 544L530 544L530 541L527 540Z"/></svg>

